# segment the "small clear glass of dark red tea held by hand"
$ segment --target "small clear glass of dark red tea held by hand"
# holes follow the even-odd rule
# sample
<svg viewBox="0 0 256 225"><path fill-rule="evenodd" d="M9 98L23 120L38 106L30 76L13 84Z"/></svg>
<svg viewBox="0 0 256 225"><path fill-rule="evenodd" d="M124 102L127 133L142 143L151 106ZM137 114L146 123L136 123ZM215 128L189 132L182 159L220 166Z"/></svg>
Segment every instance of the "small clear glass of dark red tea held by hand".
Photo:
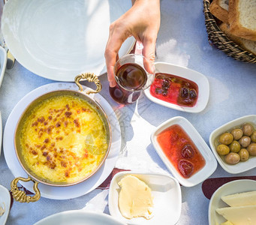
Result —
<svg viewBox="0 0 256 225"><path fill-rule="evenodd" d="M114 67L116 86L110 87L110 95L119 104L131 104L149 88L155 78L155 66L143 55L124 55Z"/></svg>

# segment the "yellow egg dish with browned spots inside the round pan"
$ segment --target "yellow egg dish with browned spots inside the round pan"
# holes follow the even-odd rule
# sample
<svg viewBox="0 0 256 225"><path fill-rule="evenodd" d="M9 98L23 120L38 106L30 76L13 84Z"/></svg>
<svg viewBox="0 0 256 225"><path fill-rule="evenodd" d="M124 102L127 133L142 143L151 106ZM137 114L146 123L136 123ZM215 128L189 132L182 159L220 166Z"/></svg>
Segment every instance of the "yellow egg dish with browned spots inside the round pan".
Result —
<svg viewBox="0 0 256 225"><path fill-rule="evenodd" d="M52 182L80 181L104 158L104 121L90 104L71 95L42 101L23 121L22 155L36 175Z"/></svg>

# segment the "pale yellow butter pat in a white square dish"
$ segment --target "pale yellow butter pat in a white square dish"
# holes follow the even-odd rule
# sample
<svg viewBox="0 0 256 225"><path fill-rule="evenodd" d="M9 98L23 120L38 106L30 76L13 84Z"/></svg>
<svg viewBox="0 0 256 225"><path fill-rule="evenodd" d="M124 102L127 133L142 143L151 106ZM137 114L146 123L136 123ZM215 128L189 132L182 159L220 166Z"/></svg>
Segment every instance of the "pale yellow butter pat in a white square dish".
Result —
<svg viewBox="0 0 256 225"><path fill-rule="evenodd" d="M119 181L119 209L122 216L152 217L152 193L150 187L134 175L127 175Z"/></svg>

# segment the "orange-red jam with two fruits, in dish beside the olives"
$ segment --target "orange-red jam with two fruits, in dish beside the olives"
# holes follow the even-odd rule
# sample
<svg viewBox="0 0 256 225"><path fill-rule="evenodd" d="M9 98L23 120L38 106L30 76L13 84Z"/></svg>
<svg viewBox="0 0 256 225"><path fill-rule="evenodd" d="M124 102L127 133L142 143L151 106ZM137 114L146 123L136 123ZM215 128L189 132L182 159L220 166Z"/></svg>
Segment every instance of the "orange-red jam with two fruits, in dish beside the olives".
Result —
<svg viewBox="0 0 256 225"><path fill-rule="evenodd" d="M206 163L194 142L178 124L159 133L157 140L170 163L184 178L194 175Z"/></svg>

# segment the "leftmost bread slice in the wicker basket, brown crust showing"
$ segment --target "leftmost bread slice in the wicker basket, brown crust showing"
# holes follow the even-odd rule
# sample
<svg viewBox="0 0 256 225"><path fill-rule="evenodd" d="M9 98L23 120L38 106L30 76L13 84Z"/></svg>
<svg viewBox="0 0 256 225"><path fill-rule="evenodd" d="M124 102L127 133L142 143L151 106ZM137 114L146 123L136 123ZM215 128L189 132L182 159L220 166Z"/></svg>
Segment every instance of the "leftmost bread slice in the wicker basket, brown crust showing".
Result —
<svg viewBox="0 0 256 225"><path fill-rule="evenodd" d="M209 11L218 20L228 24L228 0L213 0L209 5Z"/></svg>

